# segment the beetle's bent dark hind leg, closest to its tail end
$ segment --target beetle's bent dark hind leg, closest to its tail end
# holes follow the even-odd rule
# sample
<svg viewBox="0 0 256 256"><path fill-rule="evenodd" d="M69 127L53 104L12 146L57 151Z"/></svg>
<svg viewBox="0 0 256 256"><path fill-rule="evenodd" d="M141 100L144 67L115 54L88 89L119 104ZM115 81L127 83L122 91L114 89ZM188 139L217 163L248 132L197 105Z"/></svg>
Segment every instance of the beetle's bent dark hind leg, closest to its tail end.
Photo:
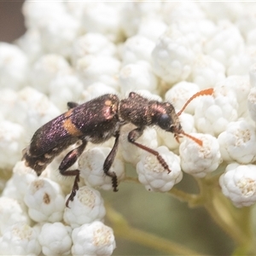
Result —
<svg viewBox="0 0 256 256"><path fill-rule="evenodd" d="M80 171L78 169L76 170L67 170L67 169L70 166L73 166L76 160L78 160L79 156L84 152L84 148L86 144L87 144L87 141L82 140L82 144L78 148L74 148L72 151L70 151L61 161L61 165L59 166L59 171L61 172L61 175L75 176L75 179L73 182L73 189L67 199L66 207L68 207L69 201L73 201L73 198L76 195L77 190L79 189L79 175L80 175Z"/></svg>

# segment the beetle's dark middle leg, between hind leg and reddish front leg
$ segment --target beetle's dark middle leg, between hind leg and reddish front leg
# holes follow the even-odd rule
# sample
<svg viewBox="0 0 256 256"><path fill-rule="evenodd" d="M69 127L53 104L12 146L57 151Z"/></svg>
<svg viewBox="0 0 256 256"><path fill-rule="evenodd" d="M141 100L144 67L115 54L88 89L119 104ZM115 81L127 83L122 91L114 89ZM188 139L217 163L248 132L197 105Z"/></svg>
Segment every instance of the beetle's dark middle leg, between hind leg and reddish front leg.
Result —
<svg viewBox="0 0 256 256"><path fill-rule="evenodd" d="M113 164L113 160L114 160L114 157L116 155L118 145L119 145L119 133L117 133L115 135L115 141L114 141L114 144L113 144L113 148L111 149L110 153L108 154L106 160L104 161L104 165L103 165L104 173L106 175L108 175L109 177L112 177L112 186L113 186L113 191L114 192L118 191L118 189L117 189L118 180L117 180L117 177L116 177L116 173L115 172L109 172L109 169Z"/></svg>

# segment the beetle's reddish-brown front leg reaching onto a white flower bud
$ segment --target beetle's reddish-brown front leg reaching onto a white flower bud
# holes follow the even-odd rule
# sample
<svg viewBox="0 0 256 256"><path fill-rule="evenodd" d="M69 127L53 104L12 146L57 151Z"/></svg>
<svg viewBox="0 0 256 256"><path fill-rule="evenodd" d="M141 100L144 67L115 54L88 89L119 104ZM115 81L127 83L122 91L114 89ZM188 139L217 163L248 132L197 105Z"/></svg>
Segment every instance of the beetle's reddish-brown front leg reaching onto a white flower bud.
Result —
<svg viewBox="0 0 256 256"><path fill-rule="evenodd" d="M148 148L147 146L144 146L141 143L136 142L136 140L143 135L143 131L144 131L144 127L136 128L136 129L130 131L128 134L129 143L132 143L132 144L136 145L138 148L142 148L143 150L148 151L148 153L150 153L150 154L154 154L156 156L157 160L160 162L160 165L163 166L167 170L168 173L171 172L171 170L169 169L169 166L166 164L166 161L161 157L161 155L157 151L155 151L152 148Z"/></svg>

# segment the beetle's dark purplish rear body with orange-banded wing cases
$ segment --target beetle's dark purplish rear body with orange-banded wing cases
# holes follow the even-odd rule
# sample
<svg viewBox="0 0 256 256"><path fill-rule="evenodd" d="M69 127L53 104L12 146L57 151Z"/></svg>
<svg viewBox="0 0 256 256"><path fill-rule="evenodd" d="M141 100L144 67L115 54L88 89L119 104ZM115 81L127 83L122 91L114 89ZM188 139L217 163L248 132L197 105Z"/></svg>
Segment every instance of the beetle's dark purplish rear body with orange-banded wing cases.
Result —
<svg viewBox="0 0 256 256"><path fill-rule="evenodd" d="M101 96L69 109L40 127L23 152L26 166L39 176L56 155L80 139L102 143L113 137L118 123L118 103L117 96Z"/></svg>

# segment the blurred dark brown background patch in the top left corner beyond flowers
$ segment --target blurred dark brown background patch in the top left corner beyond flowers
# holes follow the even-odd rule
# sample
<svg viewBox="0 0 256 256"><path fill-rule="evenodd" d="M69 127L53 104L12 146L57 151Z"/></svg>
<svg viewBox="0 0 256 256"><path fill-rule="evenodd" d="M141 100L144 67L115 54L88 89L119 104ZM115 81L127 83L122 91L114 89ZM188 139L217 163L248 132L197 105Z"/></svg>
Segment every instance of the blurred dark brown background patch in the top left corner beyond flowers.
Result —
<svg viewBox="0 0 256 256"><path fill-rule="evenodd" d="M25 32L21 7L24 1L0 1L0 41L13 42Z"/></svg>

